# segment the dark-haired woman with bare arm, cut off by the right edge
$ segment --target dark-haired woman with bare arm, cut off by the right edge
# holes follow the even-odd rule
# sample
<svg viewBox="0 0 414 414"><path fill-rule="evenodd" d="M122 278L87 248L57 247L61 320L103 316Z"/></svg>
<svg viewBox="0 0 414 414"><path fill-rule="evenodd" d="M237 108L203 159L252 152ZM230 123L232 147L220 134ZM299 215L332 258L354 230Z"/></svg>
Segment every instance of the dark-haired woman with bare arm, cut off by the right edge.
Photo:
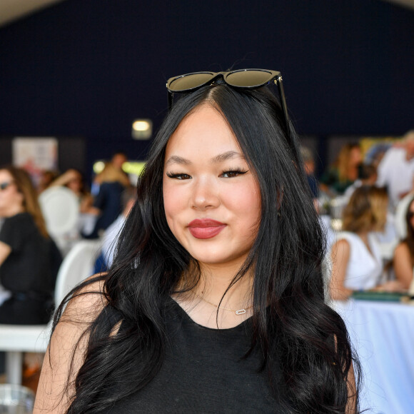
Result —
<svg viewBox="0 0 414 414"><path fill-rule="evenodd" d="M414 198L408 206L405 221L407 237L395 248L393 264L395 278L403 288L408 289L413 281L414 267Z"/></svg>

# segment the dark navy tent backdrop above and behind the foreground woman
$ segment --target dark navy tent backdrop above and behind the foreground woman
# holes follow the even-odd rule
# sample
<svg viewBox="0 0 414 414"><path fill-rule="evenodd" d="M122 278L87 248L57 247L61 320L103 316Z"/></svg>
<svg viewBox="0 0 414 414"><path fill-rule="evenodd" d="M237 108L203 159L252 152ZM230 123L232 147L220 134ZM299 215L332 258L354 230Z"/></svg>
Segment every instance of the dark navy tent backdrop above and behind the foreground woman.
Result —
<svg viewBox="0 0 414 414"><path fill-rule="evenodd" d="M413 128L414 12L376 0L69 0L0 29L0 135L126 148L166 113L165 81L199 70L282 72L301 133ZM134 153L131 153L133 151Z"/></svg>

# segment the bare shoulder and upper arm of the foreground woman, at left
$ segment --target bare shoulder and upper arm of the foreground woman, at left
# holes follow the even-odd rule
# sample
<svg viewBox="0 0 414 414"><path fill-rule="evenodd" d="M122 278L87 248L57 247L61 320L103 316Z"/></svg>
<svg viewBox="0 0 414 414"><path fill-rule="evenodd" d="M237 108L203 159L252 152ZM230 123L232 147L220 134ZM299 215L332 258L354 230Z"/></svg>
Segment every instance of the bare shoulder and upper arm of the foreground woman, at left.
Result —
<svg viewBox="0 0 414 414"><path fill-rule="evenodd" d="M74 380L84 363L89 328L107 303L104 279L94 275L74 293L51 335L41 370L34 413L66 413Z"/></svg>

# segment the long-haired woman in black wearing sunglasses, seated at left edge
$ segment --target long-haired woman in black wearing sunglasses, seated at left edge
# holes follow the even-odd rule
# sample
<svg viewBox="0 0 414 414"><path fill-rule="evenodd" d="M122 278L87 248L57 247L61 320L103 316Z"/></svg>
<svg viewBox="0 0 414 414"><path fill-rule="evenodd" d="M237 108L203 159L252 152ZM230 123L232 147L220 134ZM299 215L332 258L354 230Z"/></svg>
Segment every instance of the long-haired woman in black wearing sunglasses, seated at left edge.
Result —
<svg viewBox="0 0 414 414"><path fill-rule="evenodd" d="M20 168L0 168L0 217L0 283L11 292L0 306L0 323L47 323L61 254L46 231L30 177Z"/></svg>

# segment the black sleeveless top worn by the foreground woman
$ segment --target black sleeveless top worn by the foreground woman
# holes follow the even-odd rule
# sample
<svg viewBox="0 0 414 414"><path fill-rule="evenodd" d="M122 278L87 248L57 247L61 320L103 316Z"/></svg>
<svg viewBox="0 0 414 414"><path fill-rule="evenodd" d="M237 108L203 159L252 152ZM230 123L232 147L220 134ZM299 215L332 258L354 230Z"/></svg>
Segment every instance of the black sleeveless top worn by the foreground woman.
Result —
<svg viewBox="0 0 414 414"><path fill-rule="evenodd" d="M259 355L241 358L250 345L250 319L235 328L206 328L171 300L166 322L168 345L156 378L105 413L282 413L266 370L258 373Z"/></svg>

